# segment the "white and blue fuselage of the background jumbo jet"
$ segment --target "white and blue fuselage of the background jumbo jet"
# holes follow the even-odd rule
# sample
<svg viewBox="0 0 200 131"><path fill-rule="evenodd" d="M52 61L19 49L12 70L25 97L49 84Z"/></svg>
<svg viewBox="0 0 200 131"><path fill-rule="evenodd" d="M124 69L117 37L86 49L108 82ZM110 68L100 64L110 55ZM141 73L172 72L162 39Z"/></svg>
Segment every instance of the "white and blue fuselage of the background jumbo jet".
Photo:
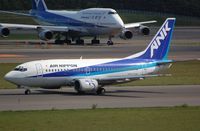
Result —
<svg viewBox="0 0 200 131"><path fill-rule="evenodd" d="M124 22L113 9L90 8L81 11L31 11L36 22L42 25L66 26L82 32L83 36L110 35L122 32Z"/></svg>

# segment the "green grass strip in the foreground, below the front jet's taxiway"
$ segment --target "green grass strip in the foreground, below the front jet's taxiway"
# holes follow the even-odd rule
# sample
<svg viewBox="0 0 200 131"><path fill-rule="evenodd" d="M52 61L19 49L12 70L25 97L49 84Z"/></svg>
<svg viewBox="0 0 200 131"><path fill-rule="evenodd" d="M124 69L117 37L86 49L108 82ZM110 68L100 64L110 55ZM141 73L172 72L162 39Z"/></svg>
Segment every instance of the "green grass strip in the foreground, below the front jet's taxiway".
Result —
<svg viewBox="0 0 200 131"><path fill-rule="evenodd" d="M0 112L1 131L199 131L200 107Z"/></svg>

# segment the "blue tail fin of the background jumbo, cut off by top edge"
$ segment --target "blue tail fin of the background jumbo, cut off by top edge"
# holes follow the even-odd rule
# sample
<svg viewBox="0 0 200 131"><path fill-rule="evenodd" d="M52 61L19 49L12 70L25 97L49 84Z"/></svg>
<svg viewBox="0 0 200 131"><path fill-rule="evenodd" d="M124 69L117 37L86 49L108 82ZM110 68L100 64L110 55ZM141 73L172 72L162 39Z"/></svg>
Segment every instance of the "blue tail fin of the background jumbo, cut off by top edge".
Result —
<svg viewBox="0 0 200 131"><path fill-rule="evenodd" d="M44 0L32 0L32 10L46 11L46 3L44 2Z"/></svg>

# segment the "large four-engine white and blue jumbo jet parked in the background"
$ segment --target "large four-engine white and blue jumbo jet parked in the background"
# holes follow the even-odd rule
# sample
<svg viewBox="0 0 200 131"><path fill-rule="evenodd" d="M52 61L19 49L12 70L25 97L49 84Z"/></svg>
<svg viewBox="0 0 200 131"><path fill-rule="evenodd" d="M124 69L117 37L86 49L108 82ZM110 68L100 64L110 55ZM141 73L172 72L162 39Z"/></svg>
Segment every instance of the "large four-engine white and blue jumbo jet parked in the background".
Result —
<svg viewBox="0 0 200 131"><path fill-rule="evenodd" d="M44 0L32 0L30 14L0 11L16 15L32 17L40 25L6 24L0 23L0 35L7 37L10 30L36 30L41 40L51 40L54 36L56 44L68 43L76 40L76 44L84 44L81 37L91 36L92 44L99 44L99 36L109 36L108 45L112 45L114 36L131 39L133 30L140 34L149 35L150 29L143 24L156 21L124 24L117 12L110 8L90 8L81 11L48 10ZM64 37L64 39L63 39Z"/></svg>

